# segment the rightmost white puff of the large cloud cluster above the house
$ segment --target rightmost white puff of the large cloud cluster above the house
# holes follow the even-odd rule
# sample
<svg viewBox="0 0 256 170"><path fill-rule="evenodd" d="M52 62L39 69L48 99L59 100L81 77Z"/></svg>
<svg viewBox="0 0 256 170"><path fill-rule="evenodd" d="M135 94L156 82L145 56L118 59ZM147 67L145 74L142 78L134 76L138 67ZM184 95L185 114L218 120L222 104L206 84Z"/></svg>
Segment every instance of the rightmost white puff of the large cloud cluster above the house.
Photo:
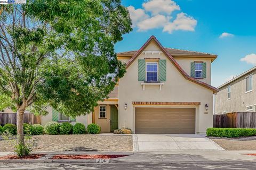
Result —
<svg viewBox="0 0 256 170"><path fill-rule="evenodd" d="M195 31L197 21L186 13L177 14L177 18L164 26L163 31L172 33L177 30Z"/></svg>

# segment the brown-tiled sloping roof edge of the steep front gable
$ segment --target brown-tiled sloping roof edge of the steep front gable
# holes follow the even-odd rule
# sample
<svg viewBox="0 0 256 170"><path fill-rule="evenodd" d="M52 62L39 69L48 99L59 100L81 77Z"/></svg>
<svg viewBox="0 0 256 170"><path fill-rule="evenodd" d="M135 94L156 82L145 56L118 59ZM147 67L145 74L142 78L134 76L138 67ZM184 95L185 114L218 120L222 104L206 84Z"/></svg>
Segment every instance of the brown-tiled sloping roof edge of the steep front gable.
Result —
<svg viewBox="0 0 256 170"><path fill-rule="evenodd" d="M169 60L173 63L173 65L178 69L178 71L183 75L183 77L189 81L192 81L194 83L197 83L207 89L210 89L213 91L213 93L218 92L219 90L207 83L204 83L202 81L199 81L195 78L190 77L182 68L181 66L177 63L177 61L174 60L174 58L172 57L171 54L169 54L166 50L166 48L164 48L161 43L159 43L159 41L156 39L155 36L151 36L146 43L132 56L132 58L127 62L126 64L126 69L128 69L128 67L133 63L133 61L143 52L143 50L149 45L149 43L151 41L155 41L155 43L157 44L157 46L163 51L163 53L167 56L167 58L169 58Z"/></svg>

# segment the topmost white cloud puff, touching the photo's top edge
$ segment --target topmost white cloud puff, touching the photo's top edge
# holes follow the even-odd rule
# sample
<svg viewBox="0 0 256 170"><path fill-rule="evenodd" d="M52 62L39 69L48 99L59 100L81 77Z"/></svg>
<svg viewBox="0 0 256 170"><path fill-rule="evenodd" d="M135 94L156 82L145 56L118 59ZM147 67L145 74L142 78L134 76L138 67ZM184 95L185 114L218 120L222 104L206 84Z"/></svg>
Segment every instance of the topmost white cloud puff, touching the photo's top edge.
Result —
<svg viewBox="0 0 256 170"><path fill-rule="evenodd" d="M142 4L146 11L153 15L171 14L175 10L180 10L180 6L172 0L151 0Z"/></svg>

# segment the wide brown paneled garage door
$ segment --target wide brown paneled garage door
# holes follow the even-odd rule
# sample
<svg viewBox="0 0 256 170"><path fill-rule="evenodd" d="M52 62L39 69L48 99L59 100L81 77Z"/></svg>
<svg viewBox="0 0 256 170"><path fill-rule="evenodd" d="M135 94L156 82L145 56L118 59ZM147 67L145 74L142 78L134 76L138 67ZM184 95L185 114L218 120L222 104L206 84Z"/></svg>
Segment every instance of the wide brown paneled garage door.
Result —
<svg viewBox="0 0 256 170"><path fill-rule="evenodd" d="M135 133L195 134L195 108L135 108Z"/></svg>

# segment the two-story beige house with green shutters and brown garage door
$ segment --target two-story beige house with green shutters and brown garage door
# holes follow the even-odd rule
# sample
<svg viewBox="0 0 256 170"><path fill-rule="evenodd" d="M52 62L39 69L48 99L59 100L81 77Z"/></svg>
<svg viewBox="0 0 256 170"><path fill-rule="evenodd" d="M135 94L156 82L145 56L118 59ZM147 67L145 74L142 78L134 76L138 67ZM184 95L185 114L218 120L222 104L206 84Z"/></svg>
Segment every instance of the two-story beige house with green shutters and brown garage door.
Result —
<svg viewBox="0 0 256 170"><path fill-rule="evenodd" d="M126 74L100 101L88 122L102 132L205 133L213 126L211 63L217 55L164 48L154 37L139 49L118 53Z"/></svg>

